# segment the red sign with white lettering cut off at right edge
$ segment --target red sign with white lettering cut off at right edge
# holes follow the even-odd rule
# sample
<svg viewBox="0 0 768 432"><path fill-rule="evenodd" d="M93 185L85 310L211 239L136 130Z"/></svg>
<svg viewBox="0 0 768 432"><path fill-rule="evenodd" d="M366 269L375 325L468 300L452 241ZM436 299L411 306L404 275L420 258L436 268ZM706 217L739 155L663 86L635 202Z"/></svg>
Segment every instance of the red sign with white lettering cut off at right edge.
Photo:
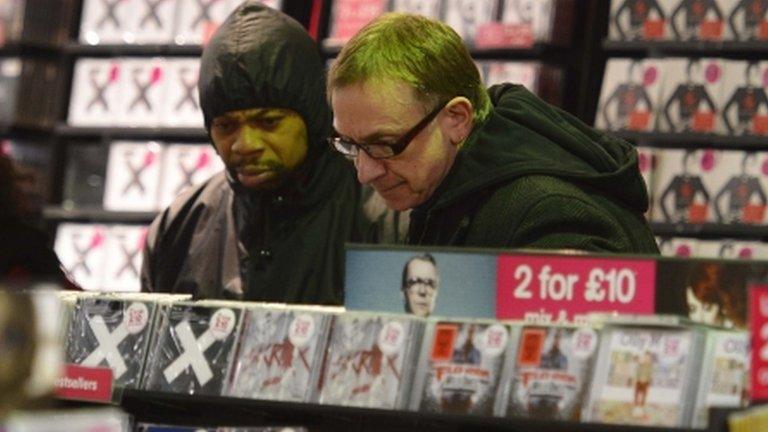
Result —
<svg viewBox="0 0 768 432"><path fill-rule="evenodd" d="M749 325L752 334L752 399L768 399L768 285L749 289Z"/></svg>

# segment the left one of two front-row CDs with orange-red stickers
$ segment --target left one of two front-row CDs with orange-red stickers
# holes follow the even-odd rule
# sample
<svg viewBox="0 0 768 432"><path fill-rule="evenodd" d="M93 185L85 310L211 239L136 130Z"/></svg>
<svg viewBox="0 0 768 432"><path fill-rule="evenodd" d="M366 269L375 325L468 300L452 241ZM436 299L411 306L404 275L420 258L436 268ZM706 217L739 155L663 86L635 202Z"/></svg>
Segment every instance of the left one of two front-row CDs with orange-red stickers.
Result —
<svg viewBox="0 0 768 432"><path fill-rule="evenodd" d="M510 331L491 321L432 319L422 341L411 409L490 416L498 412ZM497 400L498 399L498 400Z"/></svg>

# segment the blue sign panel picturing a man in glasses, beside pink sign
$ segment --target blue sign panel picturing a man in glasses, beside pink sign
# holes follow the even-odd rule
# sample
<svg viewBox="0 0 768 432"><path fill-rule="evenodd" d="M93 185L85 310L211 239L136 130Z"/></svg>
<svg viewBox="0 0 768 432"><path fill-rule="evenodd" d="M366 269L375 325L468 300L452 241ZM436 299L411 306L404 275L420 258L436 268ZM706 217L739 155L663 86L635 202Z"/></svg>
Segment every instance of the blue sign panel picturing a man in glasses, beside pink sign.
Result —
<svg viewBox="0 0 768 432"><path fill-rule="evenodd" d="M493 318L495 299L494 254L347 248L347 309Z"/></svg>

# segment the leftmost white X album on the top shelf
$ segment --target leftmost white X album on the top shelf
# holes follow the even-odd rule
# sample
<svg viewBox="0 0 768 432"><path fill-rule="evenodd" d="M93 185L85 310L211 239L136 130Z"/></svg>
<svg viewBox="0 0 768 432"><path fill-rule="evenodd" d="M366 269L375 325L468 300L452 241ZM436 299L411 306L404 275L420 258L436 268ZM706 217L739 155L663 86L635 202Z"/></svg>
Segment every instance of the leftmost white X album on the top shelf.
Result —
<svg viewBox="0 0 768 432"><path fill-rule="evenodd" d="M83 0L80 43L88 45L127 43L133 0ZM128 38L126 38L128 37Z"/></svg>

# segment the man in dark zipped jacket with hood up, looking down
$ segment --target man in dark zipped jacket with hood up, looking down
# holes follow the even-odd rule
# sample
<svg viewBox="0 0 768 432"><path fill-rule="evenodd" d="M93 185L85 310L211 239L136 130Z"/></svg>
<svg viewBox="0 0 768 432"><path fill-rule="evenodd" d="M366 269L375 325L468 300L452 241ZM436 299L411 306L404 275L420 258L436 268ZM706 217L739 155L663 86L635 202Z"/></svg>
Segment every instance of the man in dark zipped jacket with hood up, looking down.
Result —
<svg viewBox="0 0 768 432"><path fill-rule="evenodd" d="M344 243L359 241L354 170L325 137L317 46L288 16L247 1L203 51L205 127L226 170L152 223L145 291L342 302Z"/></svg>

